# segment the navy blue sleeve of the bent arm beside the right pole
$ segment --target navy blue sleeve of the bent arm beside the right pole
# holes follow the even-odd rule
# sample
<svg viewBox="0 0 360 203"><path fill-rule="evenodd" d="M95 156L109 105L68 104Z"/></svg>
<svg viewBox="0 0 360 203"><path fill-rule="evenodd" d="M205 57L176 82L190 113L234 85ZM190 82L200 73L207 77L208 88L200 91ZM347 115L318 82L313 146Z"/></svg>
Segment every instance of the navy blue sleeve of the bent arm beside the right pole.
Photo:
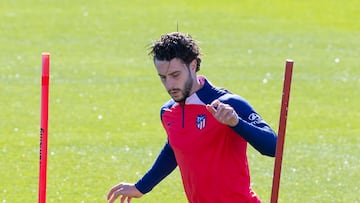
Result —
<svg viewBox="0 0 360 203"><path fill-rule="evenodd" d="M232 106L238 114L239 123L232 127L235 132L261 154L274 157L277 135L250 104L242 97L232 94L226 94L219 100Z"/></svg>

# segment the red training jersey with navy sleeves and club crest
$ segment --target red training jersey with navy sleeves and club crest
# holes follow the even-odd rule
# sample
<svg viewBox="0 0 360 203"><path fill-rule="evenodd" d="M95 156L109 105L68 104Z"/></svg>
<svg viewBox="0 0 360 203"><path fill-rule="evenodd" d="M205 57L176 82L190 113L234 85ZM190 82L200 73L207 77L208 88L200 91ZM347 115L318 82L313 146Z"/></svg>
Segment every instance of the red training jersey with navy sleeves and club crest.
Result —
<svg viewBox="0 0 360 203"><path fill-rule="evenodd" d="M274 156L276 134L242 97L203 76L198 79L202 88L185 102L170 100L161 108L167 143L135 186L145 194L179 166L190 203L260 202L250 187L247 143ZM216 99L234 108L239 116L235 127L220 123L206 109Z"/></svg>

